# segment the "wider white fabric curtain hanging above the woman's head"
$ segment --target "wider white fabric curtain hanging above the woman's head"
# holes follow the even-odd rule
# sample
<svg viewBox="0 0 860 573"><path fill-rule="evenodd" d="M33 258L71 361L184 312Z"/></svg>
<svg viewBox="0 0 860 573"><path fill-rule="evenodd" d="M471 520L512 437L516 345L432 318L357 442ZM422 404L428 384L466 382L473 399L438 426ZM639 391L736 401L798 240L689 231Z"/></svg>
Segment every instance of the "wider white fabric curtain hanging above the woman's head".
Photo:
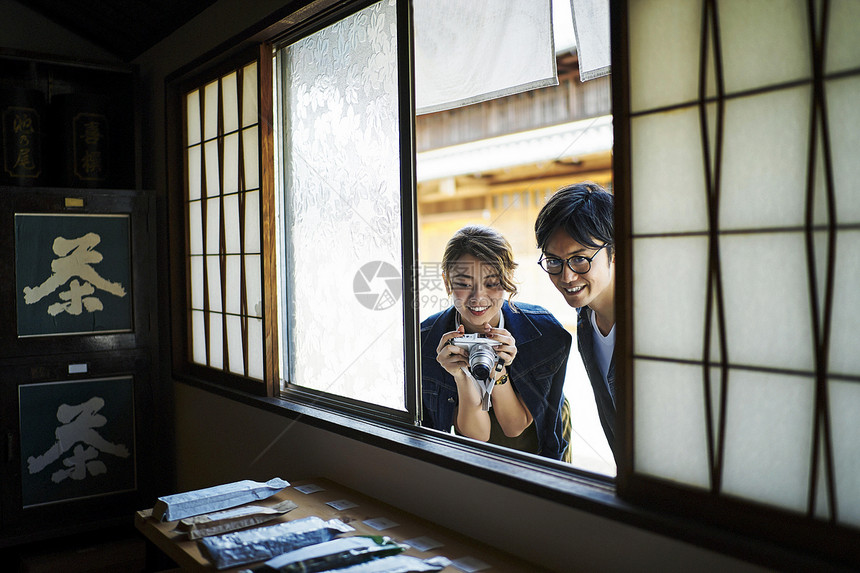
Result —
<svg viewBox="0 0 860 573"><path fill-rule="evenodd" d="M550 0L414 0L418 114L558 84Z"/></svg>

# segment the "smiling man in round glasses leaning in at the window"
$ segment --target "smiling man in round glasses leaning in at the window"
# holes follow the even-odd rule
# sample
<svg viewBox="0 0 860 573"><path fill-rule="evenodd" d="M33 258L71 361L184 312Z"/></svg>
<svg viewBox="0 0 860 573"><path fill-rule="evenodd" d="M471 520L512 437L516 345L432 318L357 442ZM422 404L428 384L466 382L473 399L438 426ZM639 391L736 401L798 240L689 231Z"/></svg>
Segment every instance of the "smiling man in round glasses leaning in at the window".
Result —
<svg viewBox="0 0 860 573"><path fill-rule="evenodd" d="M615 246L613 197L595 183L556 191L535 221L541 268L577 312L579 354L615 451Z"/></svg>

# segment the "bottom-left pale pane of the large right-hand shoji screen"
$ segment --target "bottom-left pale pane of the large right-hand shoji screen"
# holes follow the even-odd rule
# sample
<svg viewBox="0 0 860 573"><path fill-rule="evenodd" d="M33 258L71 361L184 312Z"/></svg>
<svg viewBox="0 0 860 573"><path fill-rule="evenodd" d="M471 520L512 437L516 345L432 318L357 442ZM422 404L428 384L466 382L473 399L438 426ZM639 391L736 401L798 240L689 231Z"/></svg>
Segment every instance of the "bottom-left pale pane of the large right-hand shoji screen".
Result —
<svg viewBox="0 0 860 573"><path fill-rule="evenodd" d="M636 471L709 487L702 368L651 360L633 368Z"/></svg>

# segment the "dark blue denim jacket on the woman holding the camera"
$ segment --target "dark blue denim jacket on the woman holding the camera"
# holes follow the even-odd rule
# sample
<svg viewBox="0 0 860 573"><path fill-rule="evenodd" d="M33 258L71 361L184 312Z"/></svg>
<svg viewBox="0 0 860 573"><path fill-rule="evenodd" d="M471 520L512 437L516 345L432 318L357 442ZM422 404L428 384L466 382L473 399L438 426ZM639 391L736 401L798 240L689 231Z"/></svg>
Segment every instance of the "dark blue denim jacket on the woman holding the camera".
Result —
<svg viewBox="0 0 860 573"><path fill-rule="evenodd" d="M562 435L561 405L571 335L546 309L518 302L514 312L505 301L505 329L517 346L508 376L534 418L538 454L560 460L567 448ZM454 307L421 323L421 374L424 426L449 432L459 396L454 377L436 361L442 335L454 330Z"/></svg>

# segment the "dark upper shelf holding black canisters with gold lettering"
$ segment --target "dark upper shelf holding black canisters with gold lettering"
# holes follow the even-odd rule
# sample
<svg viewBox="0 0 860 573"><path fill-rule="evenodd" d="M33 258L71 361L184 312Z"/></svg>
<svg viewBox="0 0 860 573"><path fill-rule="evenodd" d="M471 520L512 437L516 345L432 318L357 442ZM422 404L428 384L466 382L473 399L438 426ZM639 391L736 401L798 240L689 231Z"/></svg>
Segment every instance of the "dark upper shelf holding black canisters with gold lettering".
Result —
<svg viewBox="0 0 860 573"><path fill-rule="evenodd" d="M133 66L0 48L0 184L136 189Z"/></svg>

